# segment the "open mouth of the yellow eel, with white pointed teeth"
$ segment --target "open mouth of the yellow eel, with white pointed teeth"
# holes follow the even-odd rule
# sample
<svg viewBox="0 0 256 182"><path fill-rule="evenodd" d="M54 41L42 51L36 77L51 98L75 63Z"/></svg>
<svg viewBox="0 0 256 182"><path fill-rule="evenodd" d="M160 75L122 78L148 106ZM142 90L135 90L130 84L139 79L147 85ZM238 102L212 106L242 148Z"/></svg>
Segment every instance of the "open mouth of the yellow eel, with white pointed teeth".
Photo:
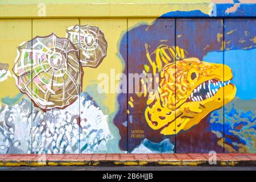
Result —
<svg viewBox="0 0 256 182"><path fill-rule="evenodd" d="M192 91L186 102L203 101L211 98L218 92L218 89L228 84L230 84L230 80L224 82L215 79L207 80Z"/></svg>

